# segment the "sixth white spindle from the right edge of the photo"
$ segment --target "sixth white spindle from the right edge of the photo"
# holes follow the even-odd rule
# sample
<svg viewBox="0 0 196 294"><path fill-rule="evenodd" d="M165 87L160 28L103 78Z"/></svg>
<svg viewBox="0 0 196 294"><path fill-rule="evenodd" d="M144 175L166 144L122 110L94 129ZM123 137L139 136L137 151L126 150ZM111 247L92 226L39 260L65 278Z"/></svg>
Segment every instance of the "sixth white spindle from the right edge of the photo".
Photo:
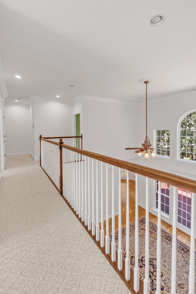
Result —
<svg viewBox="0 0 196 294"><path fill-rule="evenodd" d="M129 171L126 171L126 258L125 258L125 278L130 280L130 257L129 257Z"/></svg>

